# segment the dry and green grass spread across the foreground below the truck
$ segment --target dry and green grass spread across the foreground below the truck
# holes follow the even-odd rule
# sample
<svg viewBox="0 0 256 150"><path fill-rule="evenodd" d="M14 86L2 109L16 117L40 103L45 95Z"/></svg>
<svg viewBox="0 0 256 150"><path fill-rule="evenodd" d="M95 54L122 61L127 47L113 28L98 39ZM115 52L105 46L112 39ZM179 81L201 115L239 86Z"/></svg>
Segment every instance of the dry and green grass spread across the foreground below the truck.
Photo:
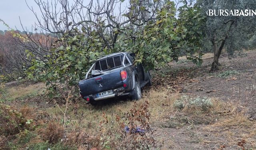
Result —
<svg viewBox="0 0 256 150"><path fill-rule="evenodd" d="M23 91L23 94L31 95L35 88L40 90L41 87L43 86L25 87L28 91ZM11 89L6 89L6 91ZM15 95L18 95L17 93ZM176 104L179 100L182 100L182 107L177 107L181 106ZM35 127L28 129L28 131L21 131L14 140L9 140L7 145L10 149L28 147L28 149L38 150L48 148L51 150L70 148L108 150L114 149L117 143L129 145L134 139L122 134L124 128L120 126L120 122L128 125L129 120L126 118L129 117L128 114L131 113L133 106L143 106L145 101L148 101L149 124L157 131L161 128L166 132L171 128L177 130L185 128L191 133L203 132L202 135L210 133L214 137L224 138L225 141L223 142L225 143L236 145L236 141L243 138L250 146L256 146L253 142L256 136L255 122L248 120L245 113L246 108L240 104L235 104L232 101L222 102L215 98L189 96L184 98L179 93L173 93L165 88L148 90L143 93L143 98L139 101L123 100L103 106L85 105L83 102L71 103L66 112L64 126L63 112L66 109L65 106L60 106L60 108L55 106L44 110L43 114L50 116L45 118L42 117L42 113L29 111L33 113L31 115L33 117L30 118L34 120L31 125ZM203 107L203 104L207 104L207 107ZM29 114L26 114L26 116L29 116ZM38 116L40 116L40 119L38 119ZM120 121L117 121L118 116L120 116ZM138 121L134 123L141 126ZM64 128L64 136L62 128ZM209 141L204 136L195 137L191 138L189 143L201 144ZM158 137L156 139L159 146L162 139ZM168 141L167 138L164 140ZM171 141L167 145L170 144L175 145L175 142Z"/></svg>

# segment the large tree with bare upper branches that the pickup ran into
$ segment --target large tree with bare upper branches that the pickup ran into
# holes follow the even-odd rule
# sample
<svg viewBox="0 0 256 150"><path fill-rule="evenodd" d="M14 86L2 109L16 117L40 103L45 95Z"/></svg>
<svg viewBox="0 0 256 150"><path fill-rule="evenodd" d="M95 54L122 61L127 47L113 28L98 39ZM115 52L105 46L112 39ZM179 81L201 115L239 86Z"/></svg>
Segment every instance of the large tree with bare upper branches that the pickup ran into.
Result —
<svg viewBox="0 0 256 150"><path fill-rule="evenodd" d="M177 19L175 4L168 0L130 0L127 9L119 7L118 14L114 9L121 6L119 0L90 1L87 6L82 0L73 4L67 0L35 2L44 20L34 26L34 37L39 36L38 31L56 37L49 38L53 41L50 46L41 46L37 38L25 32L29 41L23 45L30 62L26 73L29 78L45 81L51 95L63 84L76 86L95 59L112 52L132 51L136 63L144 63L149 69L177 60L180 52L195 63L201 62L200 26L204 17L197 7L186 3ZM52 5L56 10L60 6L60 11L50 11ZM196 51L199 56L192 56Z"/></svg>

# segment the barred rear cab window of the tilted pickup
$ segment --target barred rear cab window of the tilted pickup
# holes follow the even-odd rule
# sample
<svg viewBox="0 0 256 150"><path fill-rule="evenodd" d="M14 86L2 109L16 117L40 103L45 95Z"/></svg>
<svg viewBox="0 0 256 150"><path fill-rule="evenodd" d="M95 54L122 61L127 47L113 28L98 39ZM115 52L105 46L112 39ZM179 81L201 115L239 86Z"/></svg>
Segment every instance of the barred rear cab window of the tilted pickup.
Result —
<svg viewBox="0 0 256 150"><path fill-rule="evenodd" d="M118 55L114 57L109 57L104 60L100 60L96 62L94 70L111 70L114 68L118 68L122 66L122 60L124 58L124 55ZM130 64L129 61L125 58L124 64L128 65Z"/></svg>

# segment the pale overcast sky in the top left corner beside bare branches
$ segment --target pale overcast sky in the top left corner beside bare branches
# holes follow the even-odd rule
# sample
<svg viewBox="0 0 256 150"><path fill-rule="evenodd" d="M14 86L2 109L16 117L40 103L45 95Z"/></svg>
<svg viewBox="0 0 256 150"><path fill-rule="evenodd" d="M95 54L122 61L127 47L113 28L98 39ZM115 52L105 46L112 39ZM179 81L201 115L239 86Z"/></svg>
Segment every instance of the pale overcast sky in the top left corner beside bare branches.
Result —
<svg viewBox="0 0 256 150"><path fill-rule="evenodd" d="M89 0L84 0L89 1ZM38 6L34 0L27 0L29 6L32 6L35 12L40 13ZM22 30L20 20L24 27L31 31L32 24L36 21L36 17L29 10L25 0L0 0L0 19L4 20L10 28ZM7 30L6 26L0 22L0 30Z"/></svg>

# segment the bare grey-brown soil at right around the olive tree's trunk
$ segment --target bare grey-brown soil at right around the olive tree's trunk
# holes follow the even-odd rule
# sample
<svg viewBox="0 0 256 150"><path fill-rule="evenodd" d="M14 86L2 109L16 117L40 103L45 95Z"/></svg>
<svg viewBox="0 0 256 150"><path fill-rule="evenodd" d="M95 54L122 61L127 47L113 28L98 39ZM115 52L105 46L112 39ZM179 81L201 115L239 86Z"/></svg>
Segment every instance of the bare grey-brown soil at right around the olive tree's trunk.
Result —
<svg viewBox="0 0 256 150"><path fill-rule="evenodd" d="M220 56L220 70L209 73L212 57L204 59L202 66L192 64L171 63L171 68L180 68L186 78L180 88L184 95L214 97L223 101L241 102L250 109L248 115L256 119L256 93L252 88L256 86L256 52L247 51L236 54L235 58L229 59L226 54ZM218 77L225 71L237 71L237 74L227 77Z"/></svg>

